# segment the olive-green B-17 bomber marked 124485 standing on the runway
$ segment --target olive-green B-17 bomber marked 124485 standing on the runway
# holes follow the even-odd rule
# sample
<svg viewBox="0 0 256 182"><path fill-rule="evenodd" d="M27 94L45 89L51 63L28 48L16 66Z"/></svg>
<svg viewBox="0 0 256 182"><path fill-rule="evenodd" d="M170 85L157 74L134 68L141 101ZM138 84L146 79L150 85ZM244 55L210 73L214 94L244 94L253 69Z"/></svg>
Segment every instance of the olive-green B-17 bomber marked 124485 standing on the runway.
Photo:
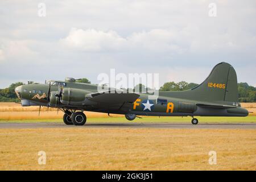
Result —
<svg viewBox="0 0 256 182"><path fill-rule="evenodd" d="M160 92L158 98L149 94L120 93L112 88L97 91L98 85L52 80L46 84L26 84L15 89L22 106L57 107L64 112L67 125L84 125L84 111L124 114L132 121L138 115L245 117L248 111L238 102L237 75L232 65L219 63L200 85L184 91ZM40 109L39 109L40 112Z"/></svg>

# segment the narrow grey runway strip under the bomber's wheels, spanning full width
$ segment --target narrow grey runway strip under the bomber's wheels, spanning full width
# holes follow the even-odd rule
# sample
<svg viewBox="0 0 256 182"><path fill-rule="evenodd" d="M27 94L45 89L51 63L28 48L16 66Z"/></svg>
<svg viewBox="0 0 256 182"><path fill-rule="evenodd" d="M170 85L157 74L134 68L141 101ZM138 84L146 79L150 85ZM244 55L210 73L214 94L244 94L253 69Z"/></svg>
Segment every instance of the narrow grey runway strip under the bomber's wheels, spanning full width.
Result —
<svg viewBox="0 0 256 182"><path fill-rule="evenodd" d="M256 123L85 123L84 126L65 125L60 122L0 123L0 129L38 128L155 128L155 129L256 129Z"/></svg>

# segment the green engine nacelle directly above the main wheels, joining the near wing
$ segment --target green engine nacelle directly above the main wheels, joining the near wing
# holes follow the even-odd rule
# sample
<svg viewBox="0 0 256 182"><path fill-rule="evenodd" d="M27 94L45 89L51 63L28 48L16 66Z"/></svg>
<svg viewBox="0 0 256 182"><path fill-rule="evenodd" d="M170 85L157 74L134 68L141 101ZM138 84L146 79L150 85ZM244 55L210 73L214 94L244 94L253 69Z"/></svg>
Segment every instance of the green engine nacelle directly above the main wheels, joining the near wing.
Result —
<svg viewBox="0 0 256 182"><path fill-rule="evenodd" d="M63 89L61 103L65 105L80 105L81 102L85 100L85 96L88 93L90 92L82 89L65 88Z"/></svg>

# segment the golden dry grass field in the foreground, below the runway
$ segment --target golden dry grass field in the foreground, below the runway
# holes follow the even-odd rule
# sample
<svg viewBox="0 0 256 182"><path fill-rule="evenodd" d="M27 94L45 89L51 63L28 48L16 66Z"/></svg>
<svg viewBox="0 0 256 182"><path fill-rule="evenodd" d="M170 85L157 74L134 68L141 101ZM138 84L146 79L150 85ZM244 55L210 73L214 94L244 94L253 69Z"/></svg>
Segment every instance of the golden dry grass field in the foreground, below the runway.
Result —
<svg viewBox="0 0 256 182"><path fill-rule="evenodd" d="M256 170L256 130L0 129L0 138L0 170Z"/></svg>

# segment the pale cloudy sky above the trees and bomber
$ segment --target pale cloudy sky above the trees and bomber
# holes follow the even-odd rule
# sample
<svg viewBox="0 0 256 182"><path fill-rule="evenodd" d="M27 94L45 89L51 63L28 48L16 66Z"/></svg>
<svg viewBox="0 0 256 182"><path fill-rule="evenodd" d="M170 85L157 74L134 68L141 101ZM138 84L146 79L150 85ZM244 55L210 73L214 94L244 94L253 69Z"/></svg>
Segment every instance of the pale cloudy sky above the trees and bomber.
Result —
<svg viewBox="0 0 256 182"><path fill-rule="evenodd" d="M100 73L200 83L225 61L256 86L256 1L1 1L0 88Z"/></svg>

